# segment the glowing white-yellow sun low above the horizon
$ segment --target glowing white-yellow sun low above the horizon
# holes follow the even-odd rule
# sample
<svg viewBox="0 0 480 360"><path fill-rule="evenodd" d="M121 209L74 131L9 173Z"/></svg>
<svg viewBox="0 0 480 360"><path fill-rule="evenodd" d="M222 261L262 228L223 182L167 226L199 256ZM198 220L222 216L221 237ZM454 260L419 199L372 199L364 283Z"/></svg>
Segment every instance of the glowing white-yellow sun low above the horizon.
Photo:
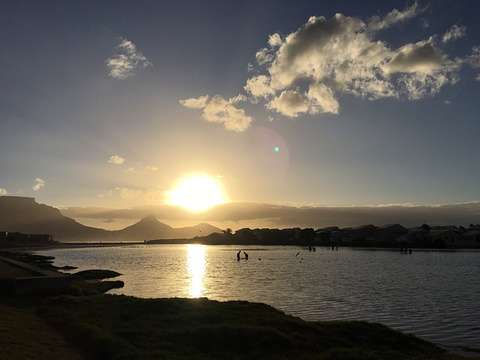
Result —
<svg viewBox="0 0 480 360"><path fill-rule="evenodd" d="M170 192L172 205L182 206L191 211L206 210L225 202L220 185L208 176L195 175L181 180Z"/></svg>

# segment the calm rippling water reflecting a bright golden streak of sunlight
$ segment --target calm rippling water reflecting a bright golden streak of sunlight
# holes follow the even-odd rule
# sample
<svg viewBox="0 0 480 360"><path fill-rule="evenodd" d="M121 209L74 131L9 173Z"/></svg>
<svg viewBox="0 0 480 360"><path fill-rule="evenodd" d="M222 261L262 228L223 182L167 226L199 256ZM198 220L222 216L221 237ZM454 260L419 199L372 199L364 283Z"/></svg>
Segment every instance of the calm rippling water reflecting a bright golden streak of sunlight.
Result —
<svg viewBox="0 0 480 360"><path fill-rule="evenodd" d="M58 266L124 274L117 279L125 287L111 293L263 302L306 320L379 322L437 344L480 348L479 251L242 250L248 260L237 261L237 247L203 245L41 253Z"/></svg>

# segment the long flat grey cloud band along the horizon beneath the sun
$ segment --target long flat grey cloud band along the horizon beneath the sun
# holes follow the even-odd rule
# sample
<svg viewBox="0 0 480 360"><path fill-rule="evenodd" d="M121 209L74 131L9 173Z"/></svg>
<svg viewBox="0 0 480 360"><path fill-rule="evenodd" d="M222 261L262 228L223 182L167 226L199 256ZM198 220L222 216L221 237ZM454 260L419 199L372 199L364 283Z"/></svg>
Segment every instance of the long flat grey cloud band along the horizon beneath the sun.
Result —
<svg viewBox="0 0 480 360"><path fill-rule="evenodd" d="M137 193L138 195L138 193ZM143 193L145 195L145 193ZM62 213L72 218L92 219L141 219L154 215L160 221L190 221L229 223L241 227L312 227L314 229L339 226L355 227L364 224L382 226L399 223L414 227L429 225L462 225L478 223L480 202L412 205L382 204L377 206L298 206L230 202L217 205L202 213L191 213L172 205L139 206L128 209L99 207L69 207ZM230 226L230 227L232 227Z"/></svg>

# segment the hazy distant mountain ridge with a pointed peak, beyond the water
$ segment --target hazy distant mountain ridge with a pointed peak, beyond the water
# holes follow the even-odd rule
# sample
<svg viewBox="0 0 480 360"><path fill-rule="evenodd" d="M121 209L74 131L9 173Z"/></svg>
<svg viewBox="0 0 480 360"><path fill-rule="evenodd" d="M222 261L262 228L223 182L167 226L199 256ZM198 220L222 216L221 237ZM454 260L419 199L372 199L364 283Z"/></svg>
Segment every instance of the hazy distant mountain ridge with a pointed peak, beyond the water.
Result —
<svg viewBox="0 0 480 360"><path fill-rule="evenodd" d="M0 231L24 234L52 234L63 242L144 241L169 238L193 238L221 232L209 224L172 228L153 215L122 230L108 231L82 225L60 213L60 210L38 204L34 198L0 196Z"/></svg>

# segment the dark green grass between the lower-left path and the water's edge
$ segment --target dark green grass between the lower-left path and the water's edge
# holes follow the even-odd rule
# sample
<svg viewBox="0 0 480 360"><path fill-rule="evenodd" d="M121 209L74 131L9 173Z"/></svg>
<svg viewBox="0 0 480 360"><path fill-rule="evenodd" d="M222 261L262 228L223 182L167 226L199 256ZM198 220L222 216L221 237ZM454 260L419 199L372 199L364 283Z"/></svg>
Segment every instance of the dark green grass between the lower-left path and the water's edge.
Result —
<svg viewBox="0 0 480 360"><path fill-rule="evenodd" d="M62 296L39 313L92 359L460 359L382 325L248 302Z"/></svg>

